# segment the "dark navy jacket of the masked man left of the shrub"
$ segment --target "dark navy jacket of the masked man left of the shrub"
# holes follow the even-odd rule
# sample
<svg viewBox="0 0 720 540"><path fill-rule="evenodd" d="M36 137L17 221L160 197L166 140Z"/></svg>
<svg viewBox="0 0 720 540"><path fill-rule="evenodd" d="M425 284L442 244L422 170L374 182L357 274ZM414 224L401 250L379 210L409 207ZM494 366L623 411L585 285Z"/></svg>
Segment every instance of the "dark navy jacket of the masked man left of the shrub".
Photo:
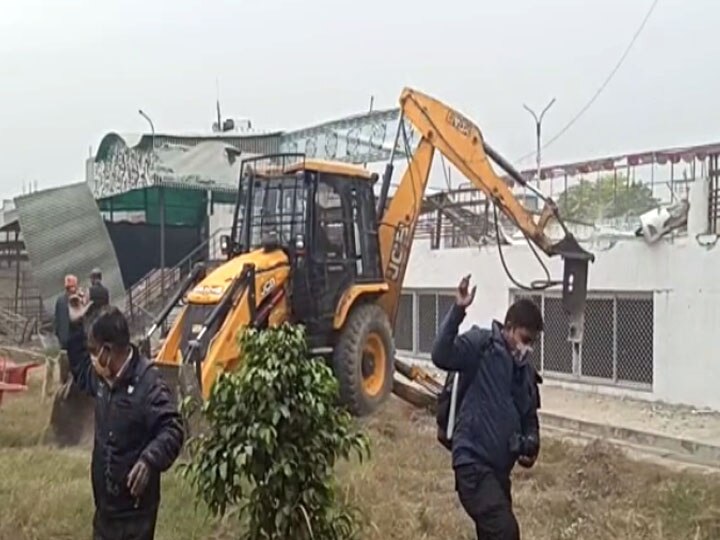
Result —
<svg viewBox="0 0 720 540"><path fill-rule="evenodd" d="M75 384L95 398L91 467L95 505L109 517L157 512L160 473L177 459L184 441L177 403L157 367L136 347L123 373L109 385L95 374L82 327L73 325L71 331L68 359ZM150 468L150 480L136 501L127 476L140 458Z"/></svg>

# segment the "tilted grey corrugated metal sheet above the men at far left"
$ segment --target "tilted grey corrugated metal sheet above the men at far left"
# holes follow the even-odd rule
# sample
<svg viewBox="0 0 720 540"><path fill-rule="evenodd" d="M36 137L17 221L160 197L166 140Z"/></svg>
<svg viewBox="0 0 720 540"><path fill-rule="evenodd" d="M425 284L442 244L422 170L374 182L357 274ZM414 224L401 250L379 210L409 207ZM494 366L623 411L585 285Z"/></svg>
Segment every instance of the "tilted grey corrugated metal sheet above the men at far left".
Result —
<svg viewBox="0 0 720 540"><path fill-rule="evenodd" d="M75 274L89 285L90 271L98 267L110 301L121 303L122 276L100 210L86 183L37 191L15 199L33 280L45 310L52 312L63 292L65 274Z"/></svg>

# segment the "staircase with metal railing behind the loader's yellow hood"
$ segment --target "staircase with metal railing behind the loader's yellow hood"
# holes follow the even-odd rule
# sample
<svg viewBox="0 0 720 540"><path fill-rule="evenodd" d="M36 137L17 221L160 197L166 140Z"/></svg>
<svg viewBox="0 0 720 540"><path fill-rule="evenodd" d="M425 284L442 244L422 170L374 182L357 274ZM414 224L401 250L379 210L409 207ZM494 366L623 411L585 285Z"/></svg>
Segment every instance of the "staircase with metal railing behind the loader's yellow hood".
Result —
<svg viewBox="0 0 720 540"><path fill-rule="evenodd" d="M162 268L153 268L126 291L124 312L133 333L145 332L152 325L165 303L197 263L205 263L210 270L222 262L220 236L228 232L227 229L218 229L175 266L165 268L164 271ZM170 312L165 322L166 327L172 325L179 312L180 306Z"/></svg>

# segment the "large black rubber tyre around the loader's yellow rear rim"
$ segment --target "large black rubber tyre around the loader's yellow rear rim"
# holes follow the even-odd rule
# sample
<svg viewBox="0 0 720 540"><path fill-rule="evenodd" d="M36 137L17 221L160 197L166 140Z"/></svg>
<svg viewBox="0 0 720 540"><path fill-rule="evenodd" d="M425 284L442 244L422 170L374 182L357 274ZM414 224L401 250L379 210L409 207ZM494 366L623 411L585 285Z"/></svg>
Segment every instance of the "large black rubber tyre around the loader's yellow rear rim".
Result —
<svg viewBox="0 0 720 540"><path fill-rule="evenodd" d="M375 334L385 350L382 388L375 395L363 386L363 349L368 336ZM340 382L340 400L354 416L375 412L392 392L395 373L395 342L385 311L373 303L352 309L333 351L333 369Z"/></svg>

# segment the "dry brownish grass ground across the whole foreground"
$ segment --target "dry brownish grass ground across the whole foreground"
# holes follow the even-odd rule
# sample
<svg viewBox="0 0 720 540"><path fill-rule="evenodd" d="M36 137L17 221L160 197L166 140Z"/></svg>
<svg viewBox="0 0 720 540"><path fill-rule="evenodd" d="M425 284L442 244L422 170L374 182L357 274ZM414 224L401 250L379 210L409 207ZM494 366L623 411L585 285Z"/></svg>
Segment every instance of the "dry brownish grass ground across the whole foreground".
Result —
<svg viewBox="0 0 720 540"><path fill-rule="evenodd" d="M89 453L38 445L50 401L40 405L39 383L32 382L30 393L0 406L0 540L89 538ZM366 424L372 459L343 464L338 479L343 500L365 516L364 538L474 538L432 419L392 400ZM599 442L546 437L536 467L515 475L513 493L526 539L720 538L720 477L635 462ZM225 540L236 533L232 520L218 523L195 508L175 472L165 475L159 540Z"/></svg>

